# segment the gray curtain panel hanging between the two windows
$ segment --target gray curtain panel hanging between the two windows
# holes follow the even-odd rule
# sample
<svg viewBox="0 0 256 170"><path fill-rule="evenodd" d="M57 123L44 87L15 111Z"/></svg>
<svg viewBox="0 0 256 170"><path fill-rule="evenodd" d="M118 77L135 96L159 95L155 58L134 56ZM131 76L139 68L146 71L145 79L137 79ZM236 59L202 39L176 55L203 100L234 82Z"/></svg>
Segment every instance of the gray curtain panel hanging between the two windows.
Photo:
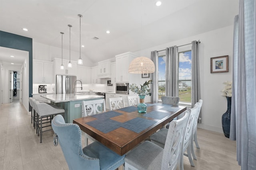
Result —
<svg viewBox="0 0 256 170"><path fill-rule="evenodd" d="M178 47L166 48L166 96L178 96Z"/></svg>

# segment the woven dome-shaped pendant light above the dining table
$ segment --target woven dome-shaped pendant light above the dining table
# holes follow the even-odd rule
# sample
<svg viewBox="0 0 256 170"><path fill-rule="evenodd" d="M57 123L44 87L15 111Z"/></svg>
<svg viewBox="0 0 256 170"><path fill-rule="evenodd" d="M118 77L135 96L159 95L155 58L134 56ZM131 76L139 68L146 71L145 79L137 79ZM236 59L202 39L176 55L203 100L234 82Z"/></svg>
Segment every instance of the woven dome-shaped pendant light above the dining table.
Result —
<svg viewBox="0 0 256 170"><path fill-rule="evenodd" d="M137 57L130 63L128 71L134 74L152 73L155 72L155 64L148 57Z"/></svg>

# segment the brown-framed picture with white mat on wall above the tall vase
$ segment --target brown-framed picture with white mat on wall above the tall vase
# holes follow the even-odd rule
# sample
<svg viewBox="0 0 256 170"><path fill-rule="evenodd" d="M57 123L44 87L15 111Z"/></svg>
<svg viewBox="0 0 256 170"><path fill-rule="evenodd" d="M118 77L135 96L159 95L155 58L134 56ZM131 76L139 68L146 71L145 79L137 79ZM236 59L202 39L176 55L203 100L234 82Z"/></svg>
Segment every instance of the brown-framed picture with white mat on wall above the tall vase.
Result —
<svg viewBox="0 0 256 170"><path fill-rule="evenodd" d="M211 58L211 73L228 72L228 55Z"/></svg>

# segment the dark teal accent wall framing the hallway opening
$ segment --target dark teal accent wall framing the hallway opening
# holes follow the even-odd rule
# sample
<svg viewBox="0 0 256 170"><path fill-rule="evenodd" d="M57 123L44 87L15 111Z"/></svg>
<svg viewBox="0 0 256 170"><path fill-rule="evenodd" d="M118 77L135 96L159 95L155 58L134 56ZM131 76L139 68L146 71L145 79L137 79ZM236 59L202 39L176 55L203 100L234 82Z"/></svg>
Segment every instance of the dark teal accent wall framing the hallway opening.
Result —
<svg viewBox="0 0 256 170"><path fill-rule="evenodd" d="M29 56L29 79L28 79L28 96L32 97L33 92L33 51L32 51L32 38L23 37L20 35L0 31L0 46L28 51Z"/></svg>

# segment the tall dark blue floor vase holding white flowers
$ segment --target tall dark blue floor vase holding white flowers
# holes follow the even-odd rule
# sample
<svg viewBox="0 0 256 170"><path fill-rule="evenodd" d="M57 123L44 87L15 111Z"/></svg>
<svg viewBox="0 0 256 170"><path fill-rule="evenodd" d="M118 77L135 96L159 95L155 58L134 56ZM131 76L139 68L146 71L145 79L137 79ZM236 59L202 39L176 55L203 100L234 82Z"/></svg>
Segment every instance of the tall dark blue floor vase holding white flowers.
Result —
<svg viewBox="0 0 256 170"><path fill-rule="evenodd" d="M230 134L230 113L231 113L231 99L232 97L226 97L228 109L227 111L222 115L222 129L225 137L229 138Z"/></svg>

